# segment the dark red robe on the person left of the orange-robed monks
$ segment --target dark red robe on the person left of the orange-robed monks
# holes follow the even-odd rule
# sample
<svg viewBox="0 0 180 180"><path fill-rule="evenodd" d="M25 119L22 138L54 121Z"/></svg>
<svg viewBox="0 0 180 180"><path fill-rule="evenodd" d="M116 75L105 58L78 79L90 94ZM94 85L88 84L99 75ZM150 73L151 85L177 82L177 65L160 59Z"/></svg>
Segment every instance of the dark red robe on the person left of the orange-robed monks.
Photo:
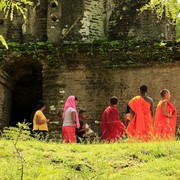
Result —
<svg viewBox="0 0 180 180"><path fill-rule="evenodd" d="M117 107L111 105L104 110L100 128L102 140L115 142L121 139L125 126L120 121Z"/></svg>

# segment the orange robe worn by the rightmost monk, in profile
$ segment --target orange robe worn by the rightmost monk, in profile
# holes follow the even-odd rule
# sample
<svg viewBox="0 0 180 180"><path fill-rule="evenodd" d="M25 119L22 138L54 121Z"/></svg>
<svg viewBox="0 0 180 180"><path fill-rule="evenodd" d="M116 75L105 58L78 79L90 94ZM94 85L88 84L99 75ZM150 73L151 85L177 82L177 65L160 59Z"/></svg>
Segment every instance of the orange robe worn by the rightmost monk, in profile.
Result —
<svg viewBox="0 0 180 180"><path fill-rule="evenodd" d="M156 140L173 140L176 132L176 108L169 102L167 102L166 111L169 114L173 114L171 118L168 118L162 113L162 104L166 100L161 100L156 108L155 123L153 129L153 135Z"/></svg>

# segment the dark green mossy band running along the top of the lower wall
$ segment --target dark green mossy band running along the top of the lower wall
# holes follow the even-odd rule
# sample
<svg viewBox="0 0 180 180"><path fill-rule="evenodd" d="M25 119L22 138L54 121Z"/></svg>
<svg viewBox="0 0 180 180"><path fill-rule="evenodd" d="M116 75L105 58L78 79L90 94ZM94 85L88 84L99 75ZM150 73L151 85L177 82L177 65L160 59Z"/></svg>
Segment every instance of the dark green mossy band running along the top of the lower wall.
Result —
<svg viewBox="0 0 180 180"><path fill-rule="evenodd" d="M81 57L80 57L81 56ZM76 64L86 56L103 66L116 67L180 61L180 42L94 41L93 43L9 43L9 50L0 49L0 62L31 57L46 61L49 67ZM78 58L77 58L78 57ZM73 60L73 61L72 61Z"/></svg>

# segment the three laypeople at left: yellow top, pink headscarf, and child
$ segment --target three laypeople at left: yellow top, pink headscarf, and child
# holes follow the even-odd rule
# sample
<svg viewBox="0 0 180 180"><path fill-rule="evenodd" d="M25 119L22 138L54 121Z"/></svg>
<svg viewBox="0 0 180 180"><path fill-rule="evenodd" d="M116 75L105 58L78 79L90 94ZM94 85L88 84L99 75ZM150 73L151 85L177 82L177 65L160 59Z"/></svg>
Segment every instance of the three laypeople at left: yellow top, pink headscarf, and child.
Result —
<svg viewBox="0 0 180 180"><path fill-rule="evenodd" d="M85 141L89 134L94 133L85 122L86 111L81 109L79 113L77 112L76 102L77 98L75 96L69 96L64 106L62 136L66 143ZM48 134L48 124L50 122L43 113L45 108L46 103L43 100L40 100L32 114L33 136L36 136L41 140L46 139Z"/></svg>

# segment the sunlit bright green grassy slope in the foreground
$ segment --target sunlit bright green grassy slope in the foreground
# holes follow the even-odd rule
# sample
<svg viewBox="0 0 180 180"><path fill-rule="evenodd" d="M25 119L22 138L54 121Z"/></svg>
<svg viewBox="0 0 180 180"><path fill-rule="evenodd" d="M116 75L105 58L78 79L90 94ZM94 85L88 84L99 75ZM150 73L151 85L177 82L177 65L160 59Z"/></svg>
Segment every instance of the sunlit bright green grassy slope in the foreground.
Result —
<svg viewBox="0 0 180 180"><path fill-rule="evenodd" d="M137 179L180 177L180 141L67 145L19 141L24 179ZM0 139L0 179L20 179L13 141Z"/></svg>

